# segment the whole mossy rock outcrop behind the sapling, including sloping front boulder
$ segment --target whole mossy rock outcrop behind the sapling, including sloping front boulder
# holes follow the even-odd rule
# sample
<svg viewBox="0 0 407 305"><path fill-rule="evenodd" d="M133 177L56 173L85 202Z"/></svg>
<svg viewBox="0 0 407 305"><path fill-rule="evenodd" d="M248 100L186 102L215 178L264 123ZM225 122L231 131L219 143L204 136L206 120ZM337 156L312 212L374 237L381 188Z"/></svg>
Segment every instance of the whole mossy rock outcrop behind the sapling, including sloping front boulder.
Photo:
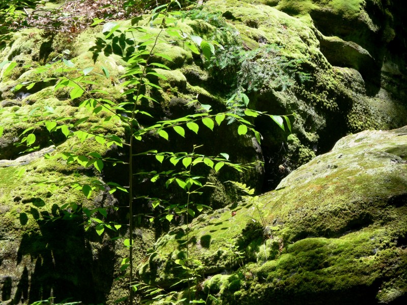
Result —
<svg viewBox="0 0 407 305"><path fill-rule="evenodd" d="M228 102L241 93L249 97L251 109L295 113L289 116L292 133L285 123L283 132L270 119L246 117L261 133L261 143L251 134L239 136L236 123L225 120L214 133L201 126L199 135L187 130L181 141L173 139L175 132L169 141L150 135L135 147L137 153L191 151L193 144L203 144L197 153L227 153L237 163L265 162L264 168L244 173L224 168L196 173L216 188L194 201L221 208L199 216L189 233L191 256L200 260L205 274L203 292L230 304L405 299L406 136L397 135L405 130L349 136L331 153L315 158L345 135L407 124L405 15L401 0L210 0L178 24L184 34L223 45L211 62L173 36L162 37L157 51L165 58L154 59L171 70L157 69L166 80L149 76L161 89L145 93L157 103L138 101L137 109L154 116L137 117L140 125L199 112L200 104L242 113L242 99ZM94 190L85 198L69 185L53 186L67 181L91 184L93 178L127 185L126 169L106 165L99 173L92 166L39 157L52 156L55 149L84 155L93 151L127 161L127 151L107 149L93 138L67 139L61 130L49 133L44 125L30 131L38 153L21 156L27 147L16 145L22 132L40 120L25 119L36 109L74 116L70 124L88 115L78 107L83 99L72 98L72 87L55 89L60 72L34 73L30 65L53 64L53 58L64 56L77 69L71 71L75 77L94 67L92 88L107 92L94 98L134 101L121 95L121 77L144 33L125 34L130 21L118 23L119 31L108 39L98 25L73 36L25 28L0 43L0 302L31 303L55 296L55 301L72 297L111 304L126 296L126 284L113 282L123 275L120 263L128 255L122 241L79 226L90 220L83 213L86 208L97 214L108 207L110 220L126 223L126 212L113 209L126 205L126 195ZM142 16L139 26L155 31L149 16ZM10 70L8 61L18 64ZM109 77L103 76L105 69ZM20 84L24 86L18 88ZM188 104L192 100L197 102ZM103 125L101 134L128 139L119 119L102 124L107 115L101 111L89 123ZM51 144L55 147L48 149ZM136 170L162 171L150 157L138 159ZM237 201L237 192L223 184L226 180L244 182L257 193L278 188L230 205ZM137 182L137 196L185 199L178 186L167 190L146 177ZM137 209L140 215L150 214L151 202ZM137 224L132 234L138 249L135 263L140 263L168 225L157 221L153 226L141 216ZM142 279L168 287L183 276L181 268L170 268L174 260L185 258L185 232L185 227L178 228L157 241L157 253L139 268ZM184 288L179 285L180 291Z"/></svg>

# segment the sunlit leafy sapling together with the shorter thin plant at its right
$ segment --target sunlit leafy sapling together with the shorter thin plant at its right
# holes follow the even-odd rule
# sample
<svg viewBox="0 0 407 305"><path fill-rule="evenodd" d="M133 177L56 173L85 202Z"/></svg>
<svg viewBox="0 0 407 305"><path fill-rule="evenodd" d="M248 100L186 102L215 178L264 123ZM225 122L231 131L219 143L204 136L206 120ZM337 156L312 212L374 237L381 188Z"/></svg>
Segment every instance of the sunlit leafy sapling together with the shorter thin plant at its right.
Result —
<svg viewBox="0 0 407 305"><path fill-rule="evenodd" d="M118 223L108 219L108 208L85 208L77 204L64 203L60 208L62 210L69 209L70 212L65 212L65 216L61 218L67 219L66 215L81 212L84 215L85 229L95 228L97 234L102 235L106 229L114 232L119 232L122 226L128 227L126 236L120 236L123 239L123 244L128 248L129 256L122 261L122 268L124 277L127 279L129 296L129 303L134 302L134 293L137 289L142 289L146 295L150 295L152 300L160 300L168 296L168 293L160 288L152 288L146 284L140 283L134 278L133 266L133 229L135 217L135 205L142 200L148 200L152 203L152 207L164 206L162 220L172 221L173 218L185 217L185 223L189 224L191 218L195 217L198 212L205 208L209 208L203 204L195 203L191 200L192 195L200 195L205 188L213 187L213 185L206 181L206 178L195 174L194 167L198 164L206 166L214 172L218 172L222 167L230 167L237 171L254 166L254 164L236 164L229 161L229 156L226 153L221 153L217 156L206 156L199 154L200 145L194 145L192 151L158 151L151 149L143 153L135 151L135 146L138 142L142 141L144 137L151 135L158 135L159 137L168 140L170 131L175 132L177 136L185 137L186 132L193 132L198 134L201 128L206 128L213 131L217 126L220 126L224 121L234 121L237 125L237 133L244 136L248 133L252 134L258 142L261 140L261 135L254 129L250 119L259 115L270 116L278 126L284 130L285 126L290 130L290 120L287 116L269 115L263 112L255 111L248 108L248 97L243 92L238 92L228 101L228 103L243 103L239 108L240 112L233 111L233 107L229 107L227 111L220 113L213 113L211 105L199 104L198 101L191 101L198 105L197 111L176 119L156 120L150 126L141 125L138 117L152 117L147 112L138 109L140 101L157 101L151 97L148 92L151 89L162 88L157 82L151 80L151 76L159 79L166 80L167 78L156 70L165 69L170 70L166 65L157 62L154 58L162 58L171 60L171 58L164 54L156 52L156 47L160 43L171 41L182 41L185 47L188 47L192 52L202 54L205 60L209 61L215 55L216 48L222 48L215 41L207 41L199 36L187 35L182 33L181 29L177 26L180 12L177 10L169 10L172 6L181 8L181 4L177 0L160 5L152 10L150 24L157 29L152 34L148 28L137 25L137 18L133 21L133 25L125 29L125 33L131 34L133 32L143 33L141 41L139 42L135 51L127 60L127 70L122 76L124 93L126 97L124 102L114 102L108 97L108 93L103 89L98 88L98 83L95 77L103 77L94 72L94 67L85 69L76 68L75 64L69 59L69 50L65 50L59 57L54 58L54 62L40 67L25 67L31 68L33 74L47 74L49 77L43 78L41 82L54 81L54 90L69 89L71 100L80 100L79 108L83 109L82 113L85 115L63 115L60 116L55 109L51 106L44 108L36 107L29 115L20 115L14 113L14 117L18 120L25 120L31 126L21 133L21 140L19 145L24 146L25 153L37 150L38 139L36 138L35 131L38 128L45 128L50 134L57 134L66 139L76 138L80 142L96 141L106 148L116 145L127 149L129 159L128 161L113 159L103 156L98 151L90 151L87 154L80 154L75 150L59 150L56 147L55 153L46 154L46 159L65 160L67 164L78 164L84 168L93 167L99 174L107 163L112 166L116 164L123 164L128 169L128 184L119 185L115 182L105 182L99 176L91 177L88 180L78 181L38 181L38 185L43 185L52 188L56 191L59 188L69 187L74 190L80 190L83 195L90 199L92 194L100 191L108 191L113 194L115 191L122 191L127 193L128 205L125 207L114 207L114 209L126 208L128 209L127 215L129 222ZM105 39L115 35L115 33L123 31L118 24L109 24L104 26ZM120 32L122 33L122 32ZM168 38L169 37L169 38ZM261 51L258 51L261 52ZM260 53L255 53L253 58ZM254 54L254 53L253 53ZM13 69L17 63L7 62L4 65L9 65L6 69ZM104 77L110 78L109 71L104 66L100 66L103 71ZM38 82L38 80L29 81L15 87L18 92L21 88L31 89ZM242 84L243 85L243 84ZM102 115L103 114L103 115ZM243 115L247 117L243 118ZM95 119L97 118L97 119ZM97 123L95 123L95 120ZM120 123L128 132L128 139L123 139L114 133L106 131L105 124L112 122ZM285 123L284 123L285 122ZM225 124L225 123L223 123ZM0 127L0 136L3 132L3 127ZM169 169L162 171L147 171L147 172L134 172L134 164L138 162L140 156L153 156L156 162L162 166L169 166ZM135 175L143 175L150 179L151 182L157 180L165 180L165 186L176 184L187 195L186 202L169 204L164 199L156 198L154 196L137 196L136 197L136 180ZM237 185L235 182L235 185ZM251 192L251 191L250 191ZM260 211L259 211L260 212ZM261 214L260 214L261 215ZM151 221L154 221L154 216L147 216ZM69 217L68 217L69 218ZM54 221L55 219L50 219ZM127 237L127 238L126 238ZM189 239L189 229L187 229L187 240ZM175 302L189 301L191 303L205 303L206 300L193 299L194 285L199 277L199 261L189 256L189 243L187 242L186 259L176 260L175 263L186 270L186 278L181 281L188 286L187 298L177 299L174 292L169 292ZM208 295L208 297L210 297ZM212 297L212 296L211 296ZM125 299L118 300L124 301Z"/></svg>

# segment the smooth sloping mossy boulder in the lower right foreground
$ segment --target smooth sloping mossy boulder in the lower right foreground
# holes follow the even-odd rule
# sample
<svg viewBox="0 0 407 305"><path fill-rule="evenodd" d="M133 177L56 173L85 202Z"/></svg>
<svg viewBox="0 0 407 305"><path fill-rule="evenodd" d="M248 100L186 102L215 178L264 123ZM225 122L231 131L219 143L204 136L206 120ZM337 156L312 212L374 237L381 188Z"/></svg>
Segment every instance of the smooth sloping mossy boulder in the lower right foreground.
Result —
<svg viewBox="0 0 407 305"><path fill-rule="evenodd" d="M347 136L277 190L162 236L139 277L180 281L188 247L201 295L224 304L402 303L406 198L407 127Z"/></svg>

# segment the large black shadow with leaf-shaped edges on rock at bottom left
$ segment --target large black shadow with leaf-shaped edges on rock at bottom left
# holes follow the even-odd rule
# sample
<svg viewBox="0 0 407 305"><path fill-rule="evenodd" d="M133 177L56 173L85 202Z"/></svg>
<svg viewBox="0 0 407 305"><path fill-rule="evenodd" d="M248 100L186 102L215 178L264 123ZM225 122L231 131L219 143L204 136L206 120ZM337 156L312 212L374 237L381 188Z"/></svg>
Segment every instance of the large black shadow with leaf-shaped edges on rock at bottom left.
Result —
<svg viewBox="0 0 407 305"><path fill-rule="evenodd" d="M37 210L36 215L39 231L25 232L17 252L17 265L22 262L23 256L30 255L35 267L30 281L28 271L24 269L14 303L21 299L32 303L51 296L55 297L55 302L69 299L85 304L105 303L104 295L113 281L112 246L102 247L95 259L80 225L82 217L47 221L44 218L49 215L41 213L40 219Z"/></svg>

